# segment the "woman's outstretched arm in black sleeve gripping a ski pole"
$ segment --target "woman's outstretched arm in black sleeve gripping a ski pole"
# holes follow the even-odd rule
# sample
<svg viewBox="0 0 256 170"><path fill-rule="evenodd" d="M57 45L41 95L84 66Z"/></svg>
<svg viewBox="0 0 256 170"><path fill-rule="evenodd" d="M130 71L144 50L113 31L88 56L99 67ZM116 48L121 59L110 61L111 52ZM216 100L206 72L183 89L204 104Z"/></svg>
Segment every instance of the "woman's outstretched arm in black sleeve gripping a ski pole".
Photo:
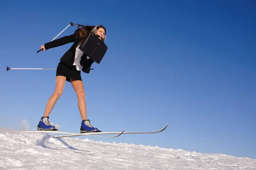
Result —
<svg viewBox="0 0 256 170"><path fill-rule="evenodd" d="M67 43L74 42L75 38L76 38L75 34L68 35L68 36L65 36L65 37L61 37L61 38L58 38L56 40L45 43L44 45L41 46L41 49L43 48L44 50L47 50L47 49L51 49L51 48L54 48L54 47L57 47L57 46L63 46Z"/></svg>

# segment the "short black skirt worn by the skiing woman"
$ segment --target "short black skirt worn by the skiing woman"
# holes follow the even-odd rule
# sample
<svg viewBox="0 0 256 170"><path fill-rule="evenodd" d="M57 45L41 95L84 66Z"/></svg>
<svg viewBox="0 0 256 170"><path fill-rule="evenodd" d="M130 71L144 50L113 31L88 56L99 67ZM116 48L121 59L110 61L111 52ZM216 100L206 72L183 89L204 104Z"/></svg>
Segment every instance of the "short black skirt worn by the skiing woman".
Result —
<svg viewBox="0 0 256 170"><path fill-rule="evenodd" d="M70 82L70 78L75 79L75 80L81 80L81 71L78 71L76 69L76 66L68 66L67 64L63 62L58 63L57 71L56 71L56 76L62 75L66 77L66 81Z"/></svg>

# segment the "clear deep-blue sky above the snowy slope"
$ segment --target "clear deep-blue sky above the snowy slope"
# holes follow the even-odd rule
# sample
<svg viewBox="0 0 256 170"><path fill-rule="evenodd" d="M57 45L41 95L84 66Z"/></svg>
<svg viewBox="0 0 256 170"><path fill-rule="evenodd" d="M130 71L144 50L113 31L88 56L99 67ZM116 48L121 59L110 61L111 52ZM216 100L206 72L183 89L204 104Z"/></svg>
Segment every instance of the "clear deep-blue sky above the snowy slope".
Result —
<svg viewBox="0 0 256 170"><path fill-rule="evenodd" d="M256 158L255 1L5 0L0 9L1 127L36 128L55 88L55 70L6 66L56 68L72 44L36 53L42 44L70 22L103 24L108 51L82 73L87 118L102 131L169 126L90 139ZM50 121L79 133L69 82Z"/></svg>

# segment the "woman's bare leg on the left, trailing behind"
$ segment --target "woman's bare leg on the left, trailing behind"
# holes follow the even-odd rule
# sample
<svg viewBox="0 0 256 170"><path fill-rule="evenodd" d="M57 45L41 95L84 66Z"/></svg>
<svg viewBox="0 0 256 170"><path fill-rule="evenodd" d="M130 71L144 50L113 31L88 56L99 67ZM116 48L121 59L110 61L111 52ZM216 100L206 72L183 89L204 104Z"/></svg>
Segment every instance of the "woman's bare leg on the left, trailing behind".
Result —
<svg viewBox="0 0 256 170"><path fill-rule="evenodd" d="M61 97L61 94L64 90L66 82L66 77L58 75L56 77L56 85L55 85L55 91L52 94L52 96L49 98L45 110L44 110L44 117L49 116L50 112L52 111L53 107L55 106L58 99Z"/></svg>

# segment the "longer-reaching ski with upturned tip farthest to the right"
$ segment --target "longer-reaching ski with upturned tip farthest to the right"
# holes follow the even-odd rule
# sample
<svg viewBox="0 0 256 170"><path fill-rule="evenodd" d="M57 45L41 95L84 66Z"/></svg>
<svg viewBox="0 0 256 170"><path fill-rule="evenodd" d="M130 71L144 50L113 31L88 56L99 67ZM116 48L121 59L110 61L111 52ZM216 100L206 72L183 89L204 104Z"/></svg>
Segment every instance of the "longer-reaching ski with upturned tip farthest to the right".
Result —
<svg viewBox="0 0 256 170"><path fill-rule="evenodd" d="M151 132L122 132L122 133L119 133L119 132L110 132L108 134L118 134L117 136L119 135L122 135L122 134L137 134L137 133L159 133L159 132L162 132L163 130L166 129L166 127L168 126L168 124L161 130L157 130L157 131L151 131ZM82 136L82 135L87 135L87 133L69 133L70 135L60 135L60 136L55 136L53 138L64 138L64 137L73 137L73 136ZM100 135L101 132L99 133L94 133L93 135ZM115 137L117 137L115 136ZM102 137L102 136L101 136Z"/></svg>

